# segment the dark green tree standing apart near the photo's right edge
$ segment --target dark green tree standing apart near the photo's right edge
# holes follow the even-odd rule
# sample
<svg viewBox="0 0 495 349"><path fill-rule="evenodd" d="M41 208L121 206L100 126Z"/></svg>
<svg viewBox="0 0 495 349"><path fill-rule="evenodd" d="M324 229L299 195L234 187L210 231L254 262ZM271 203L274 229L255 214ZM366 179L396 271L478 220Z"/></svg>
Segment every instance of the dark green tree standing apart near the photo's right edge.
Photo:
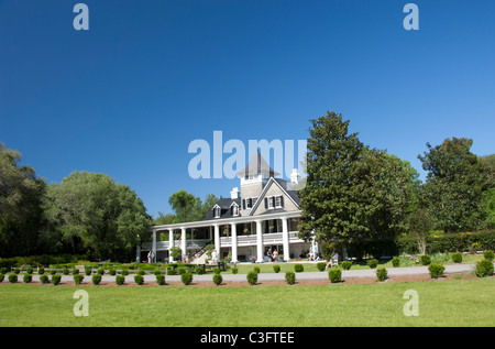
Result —
<svg viewBox="0 0 495 349"><path fill-rule="evenodd" d="M447 139L418 156L428 171L424 187L433 229L447 232L479 229L484 220L483 192L490 187L487 168L471 152L473 140Z"/></svg>

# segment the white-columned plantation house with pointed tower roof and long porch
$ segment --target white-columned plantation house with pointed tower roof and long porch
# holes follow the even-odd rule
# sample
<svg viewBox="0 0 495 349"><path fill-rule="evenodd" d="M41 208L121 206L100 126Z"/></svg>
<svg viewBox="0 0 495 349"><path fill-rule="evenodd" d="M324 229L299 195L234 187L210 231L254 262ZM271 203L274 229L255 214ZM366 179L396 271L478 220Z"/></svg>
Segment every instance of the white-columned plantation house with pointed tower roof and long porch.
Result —
<svg viewBox="0 0 495 349"><path fill-rule="evenodd" d="M220 259L230 255L232 262L252 258L263 262L268 249L285 261L308 251L314 242L298 238L297 170L293 170L290 182L275 178L278 174L257 151L237 175L241 190L235 187L230 198L220 198L204 220L153 227L153 241L139 248L138 255L153 251L155 261L173 261L169 249L179 247L183 259L187 254L194 263L201 259L207 244L215 244ZM168 240L157 241L163 232L168 233Z"/></svg>

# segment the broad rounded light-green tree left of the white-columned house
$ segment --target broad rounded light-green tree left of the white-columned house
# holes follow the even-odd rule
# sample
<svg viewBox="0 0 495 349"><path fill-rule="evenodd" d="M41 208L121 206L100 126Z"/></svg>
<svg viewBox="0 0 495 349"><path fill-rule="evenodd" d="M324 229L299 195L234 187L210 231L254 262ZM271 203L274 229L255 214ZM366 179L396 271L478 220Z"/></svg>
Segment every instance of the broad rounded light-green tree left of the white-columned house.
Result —
<svg viewBox="0 0 495 349"><path fill-rule="evenodd" d="M64 242L73 253L125 260L151 239L152 219L142 200L106 174L74 172L50 185L44 208L46 241Z"/></svg>

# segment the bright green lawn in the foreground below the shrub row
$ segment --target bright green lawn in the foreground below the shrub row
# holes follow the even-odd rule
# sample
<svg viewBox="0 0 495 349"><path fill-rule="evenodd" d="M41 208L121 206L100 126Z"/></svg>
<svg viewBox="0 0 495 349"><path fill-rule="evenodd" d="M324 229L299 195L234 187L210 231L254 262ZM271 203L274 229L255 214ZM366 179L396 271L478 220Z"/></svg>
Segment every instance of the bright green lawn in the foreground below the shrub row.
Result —
<svg viewBox="0 0 495 349"><path fill-rule="evenodd" d="M73 294L89 294L76 317ZM407 317L404 292L419 294ZM0 326L495 326L495 277L323 286L0 284Z"/></svg>

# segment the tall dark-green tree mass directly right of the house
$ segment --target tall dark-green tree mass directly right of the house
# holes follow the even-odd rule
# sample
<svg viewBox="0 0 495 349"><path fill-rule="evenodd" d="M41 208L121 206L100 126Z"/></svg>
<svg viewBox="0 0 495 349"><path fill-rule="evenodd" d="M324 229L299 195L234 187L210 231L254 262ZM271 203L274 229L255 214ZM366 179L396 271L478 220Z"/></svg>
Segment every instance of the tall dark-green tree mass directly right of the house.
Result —
<svg viewBox="0 0 495 349"><path fill-rule="evenodd" d="M349 120L327 112L310 120L306 187L298 192L300 238L352 247L393 239L404 227L418 174L407 162L371 150L349 133Z"/></svg>

